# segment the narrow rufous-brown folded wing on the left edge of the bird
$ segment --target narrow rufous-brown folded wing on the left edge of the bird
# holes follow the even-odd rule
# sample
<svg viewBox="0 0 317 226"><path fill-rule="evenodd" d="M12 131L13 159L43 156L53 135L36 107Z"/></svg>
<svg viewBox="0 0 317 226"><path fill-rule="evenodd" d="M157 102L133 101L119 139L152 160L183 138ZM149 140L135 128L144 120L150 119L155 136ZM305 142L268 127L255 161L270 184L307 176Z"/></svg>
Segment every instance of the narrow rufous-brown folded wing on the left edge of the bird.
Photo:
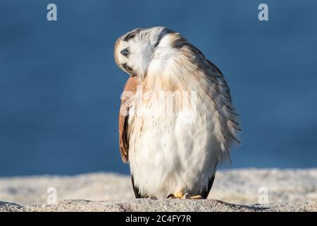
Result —
<svg viewBox="0 0 317 226"><path fill-rule="evenodd" d="M121 95L121 105L119 112L119 145L120 153L123 162L128 162L129 155L129 137L130 137L130 123L133 115L129 114L131 108L131 98L134 97L137 91L137 78L130 77L125 83L125 88Z"/></svg>

